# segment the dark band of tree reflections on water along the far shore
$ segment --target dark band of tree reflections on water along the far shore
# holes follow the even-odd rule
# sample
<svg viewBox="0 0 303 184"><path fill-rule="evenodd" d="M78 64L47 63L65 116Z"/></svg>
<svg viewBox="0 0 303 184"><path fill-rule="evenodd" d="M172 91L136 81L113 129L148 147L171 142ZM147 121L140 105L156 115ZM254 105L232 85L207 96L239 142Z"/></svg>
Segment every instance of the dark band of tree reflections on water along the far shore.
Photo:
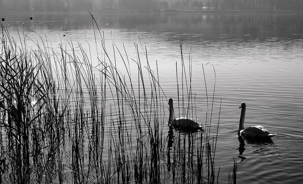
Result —
<svg viewBox="0 0 303 184"><path fill-rule="evenodd" d="M92 19L89 14L28 14L28 18L30 16L33 16L33 21L22 25L26 20L24 15L10 14L8 18L5 18L5 25L15 28L22 25L25 30L41 29L42 31L45 28L52 31L92 29ZM163 39L169 42L187 42L192 45L214 40L250 43L256 40L268 42L271 41L269 38L298 39L298 35L293 33L301 33L302 27L302 16L285 13L102 13L93 14L93 16L100 29L156 32L156 34L165 35ZM297 23L294 24L294 22ZM225 36L218 37L218 35Z"/></svg>

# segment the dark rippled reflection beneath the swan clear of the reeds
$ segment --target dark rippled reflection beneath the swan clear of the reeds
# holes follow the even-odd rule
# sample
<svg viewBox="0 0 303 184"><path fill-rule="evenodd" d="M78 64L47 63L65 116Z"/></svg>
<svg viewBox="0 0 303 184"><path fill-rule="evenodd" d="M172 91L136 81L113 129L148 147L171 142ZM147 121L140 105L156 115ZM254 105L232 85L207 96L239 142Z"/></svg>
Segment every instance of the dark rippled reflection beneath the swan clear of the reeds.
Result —
<svg viewBox="0 0 303 184"><path fill-rule="evenodd" d="M240 162L242 162L243 160L246 159L246 157L241 156L243 154L243 152L246 150L245 149L245 143L248 144L248 145L251 145L252 147L258 148L257 150L254 150L252 152L258 152L260 150L263 150L263 149L267 148L267 147L259 148L260 146L267 146L267 145L273 145L274 144L272 142L271 138L260 139L260 138L254 138L254 137L247 137L247 136L241 136L239 133L238 133L238 140L239 140L239 145L238 145L237 150L239 151L238 158L241 159Z"/></svg>

